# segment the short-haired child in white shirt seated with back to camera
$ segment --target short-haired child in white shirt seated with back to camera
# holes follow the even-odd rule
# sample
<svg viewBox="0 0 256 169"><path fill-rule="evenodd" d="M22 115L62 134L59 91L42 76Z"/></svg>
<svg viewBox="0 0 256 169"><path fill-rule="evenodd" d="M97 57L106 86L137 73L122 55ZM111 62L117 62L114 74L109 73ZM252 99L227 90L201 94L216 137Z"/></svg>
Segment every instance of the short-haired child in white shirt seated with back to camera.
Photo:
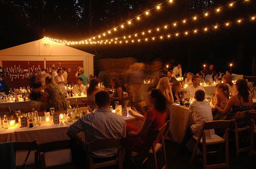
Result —
<svg viewBox="0 0 256 169"><path fill-rule="evenodd" d="M180 151L184 151L185 146L189 138L193 135L198 136L203 122L213 121L211 114L211 106L205 99L205 92L203 90L197 90L195 93L195 101L189 105L189 111L193 124L188 127L186 134L183 138ZM207 138L214 138L214 129L205 130L205 136Z"/></svg>

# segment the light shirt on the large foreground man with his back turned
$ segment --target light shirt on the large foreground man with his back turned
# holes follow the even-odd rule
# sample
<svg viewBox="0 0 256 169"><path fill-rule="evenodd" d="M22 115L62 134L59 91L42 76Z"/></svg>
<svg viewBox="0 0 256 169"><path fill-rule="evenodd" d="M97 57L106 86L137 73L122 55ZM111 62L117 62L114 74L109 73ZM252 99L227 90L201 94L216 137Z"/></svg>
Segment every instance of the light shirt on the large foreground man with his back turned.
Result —
<svg viewBox="0 0 256 169"><path fill-rule="evenodd" d="M126 122L122 116L114 114L110 108L98 108L94 113L84 115L70 125L67 131L72 135L83 131L87 142L101 139L125 137ZM92 152L93 157L106 158L117 154L117 149Z"/></svg>

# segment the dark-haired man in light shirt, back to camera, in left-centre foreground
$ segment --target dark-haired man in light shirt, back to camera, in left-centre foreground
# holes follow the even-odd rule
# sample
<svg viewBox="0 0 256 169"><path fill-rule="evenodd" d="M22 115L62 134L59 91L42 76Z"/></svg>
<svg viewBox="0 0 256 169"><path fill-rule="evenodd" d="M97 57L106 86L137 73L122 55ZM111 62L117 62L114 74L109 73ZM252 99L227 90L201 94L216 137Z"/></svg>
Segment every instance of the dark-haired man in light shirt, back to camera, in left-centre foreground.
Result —
<svg viewBox="0 0 256 169"><path fill-rule="evenodd" d="M110 109L109 93L105 91L96 93L95 103L98 109L93 114L84 115L68 127L66 132L69 137L80 144L83 144L83 139L78 135L80 131L83 131L86 142L89 143L102 139L125 137L125 120L122 116L114 114ZM92 152L92 156L97 160L114 158L116 154L117 149L115 148ZM84 162L85 158L79 156L78 160Z"/></svg>

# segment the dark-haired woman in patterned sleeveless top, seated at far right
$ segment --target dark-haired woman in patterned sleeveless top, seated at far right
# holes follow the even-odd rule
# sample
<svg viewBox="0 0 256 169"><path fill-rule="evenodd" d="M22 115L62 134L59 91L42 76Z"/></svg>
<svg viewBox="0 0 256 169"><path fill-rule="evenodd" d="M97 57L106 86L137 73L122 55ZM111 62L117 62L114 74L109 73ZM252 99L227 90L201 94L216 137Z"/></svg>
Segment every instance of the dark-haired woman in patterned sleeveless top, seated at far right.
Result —
<svg viewBox="0 0 256 169"><path fill-rule="evenodd" d="M217 103L215 104L215 107L221 112L222 115L227 114L225 120L233 119L234 115L236 115L238 111L246 111L252 108L253 101L249 95L247 81L244 79L239 79L236 83L236 89L238 94L230 97L224 109L218 106ZM229 112L231 108L232 110ZM248 118L239 119L238 127L245 127L245 125L248 123Z"/></svg>

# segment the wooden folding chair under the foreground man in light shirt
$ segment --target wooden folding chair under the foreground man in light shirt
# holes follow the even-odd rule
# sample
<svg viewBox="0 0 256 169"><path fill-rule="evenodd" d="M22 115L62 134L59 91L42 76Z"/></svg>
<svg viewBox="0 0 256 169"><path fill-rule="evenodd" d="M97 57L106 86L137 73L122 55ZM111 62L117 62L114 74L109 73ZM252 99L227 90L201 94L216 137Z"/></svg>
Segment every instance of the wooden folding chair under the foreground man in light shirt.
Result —
<svg viewBox="0 0 256 169"><path fill-rule="evenodd" d="M87 153L87 163L90 166L90 169L94 168L101 168L105 166L112 166L112 165L119 165L119 169L123 168L122 162L122 146L123 145L123 138L116 138L116 139L104 139L99 140L97 142L86 143L86 153ZM103 149L110 149L110 148L117 148L117 158L112 159L109 161L94 163L92 153L93 151L103 150Z"/></svg>

